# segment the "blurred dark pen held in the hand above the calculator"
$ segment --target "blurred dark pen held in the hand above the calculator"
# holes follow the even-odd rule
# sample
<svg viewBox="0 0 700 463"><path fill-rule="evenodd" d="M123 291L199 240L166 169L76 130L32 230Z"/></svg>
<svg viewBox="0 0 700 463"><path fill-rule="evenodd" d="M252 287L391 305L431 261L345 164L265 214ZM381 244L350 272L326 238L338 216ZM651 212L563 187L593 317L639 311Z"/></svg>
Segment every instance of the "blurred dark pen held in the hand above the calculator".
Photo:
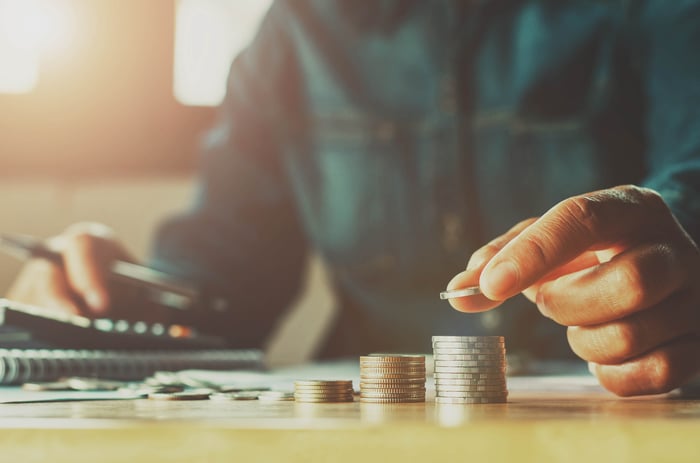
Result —
<svg viewBox="0 0 700 463"><path fill-rule="evenodd" d="M0 234L0 247L20 258L40 258L63 264L63 256L41 240L27 235ZM188 309L198 302L199 291L167 273L142 265L117 260L110 268L110 277L126 284L160 292L160 302L173 308Z"/></svg>

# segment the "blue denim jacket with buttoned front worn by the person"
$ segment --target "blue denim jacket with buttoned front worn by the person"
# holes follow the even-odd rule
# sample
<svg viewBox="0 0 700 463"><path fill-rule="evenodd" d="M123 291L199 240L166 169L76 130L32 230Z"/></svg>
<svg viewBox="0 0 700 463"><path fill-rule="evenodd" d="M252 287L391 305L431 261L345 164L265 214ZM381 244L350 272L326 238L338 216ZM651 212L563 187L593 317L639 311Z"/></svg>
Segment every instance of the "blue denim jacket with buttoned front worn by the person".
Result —
<svg viewBox="0 0 700 463"><path fill-rule="evenodd" d="M264 342L313 251L341 306L327 355L495 333L566 356L523 298L467 315L438 292L516 222L620 184L698 242L699 47L694 0L280 0L155 265L230 301L202 325L233 345Z"/></svg>

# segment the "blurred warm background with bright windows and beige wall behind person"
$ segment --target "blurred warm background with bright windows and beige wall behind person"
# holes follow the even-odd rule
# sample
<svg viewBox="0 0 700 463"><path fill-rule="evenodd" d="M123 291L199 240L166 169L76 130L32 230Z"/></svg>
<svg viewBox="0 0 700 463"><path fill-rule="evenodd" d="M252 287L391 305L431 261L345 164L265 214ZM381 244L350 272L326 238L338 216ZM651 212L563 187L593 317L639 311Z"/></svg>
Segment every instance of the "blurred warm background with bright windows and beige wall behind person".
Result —
<svg viewBox="0 0 700 463"><path fill-rule="evenodd" d="M0 0L0 230L102 222L147 256L186 207L199 139L271 0ZM21 263L0 255L3 293ZM307 358L332 318L323 268L270 345Z"/></svg>

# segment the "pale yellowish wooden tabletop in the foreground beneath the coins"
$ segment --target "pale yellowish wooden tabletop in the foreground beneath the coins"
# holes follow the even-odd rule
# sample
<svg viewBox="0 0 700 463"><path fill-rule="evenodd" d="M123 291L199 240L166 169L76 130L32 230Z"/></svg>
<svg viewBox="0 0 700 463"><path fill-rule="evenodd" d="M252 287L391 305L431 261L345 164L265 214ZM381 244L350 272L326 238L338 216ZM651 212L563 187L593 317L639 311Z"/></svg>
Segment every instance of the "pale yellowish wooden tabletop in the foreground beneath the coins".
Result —
<svg viewBox="0 0 700 463"><path fill-rule="evenodd" d="M700 401L511 392L490 405L0 405L2 462L700 462Z"/></svg>

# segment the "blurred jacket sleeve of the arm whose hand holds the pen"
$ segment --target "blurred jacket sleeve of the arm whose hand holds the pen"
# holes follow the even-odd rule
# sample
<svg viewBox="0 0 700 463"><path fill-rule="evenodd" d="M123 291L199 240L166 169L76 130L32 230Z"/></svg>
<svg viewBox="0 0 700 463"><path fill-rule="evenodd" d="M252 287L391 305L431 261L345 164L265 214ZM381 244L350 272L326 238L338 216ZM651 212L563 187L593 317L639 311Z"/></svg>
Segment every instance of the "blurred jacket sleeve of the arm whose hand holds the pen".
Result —
<svg viewBox="0 0 700 463"><path fill-rule="evenodd" d="M307 244L280 154L280 115L289 114L293 60L280 8L233 62L225 101L204 139L189 212L162 224L152 265L228 301L202 331L232 345L264 343L298 292Z"/></svg>

